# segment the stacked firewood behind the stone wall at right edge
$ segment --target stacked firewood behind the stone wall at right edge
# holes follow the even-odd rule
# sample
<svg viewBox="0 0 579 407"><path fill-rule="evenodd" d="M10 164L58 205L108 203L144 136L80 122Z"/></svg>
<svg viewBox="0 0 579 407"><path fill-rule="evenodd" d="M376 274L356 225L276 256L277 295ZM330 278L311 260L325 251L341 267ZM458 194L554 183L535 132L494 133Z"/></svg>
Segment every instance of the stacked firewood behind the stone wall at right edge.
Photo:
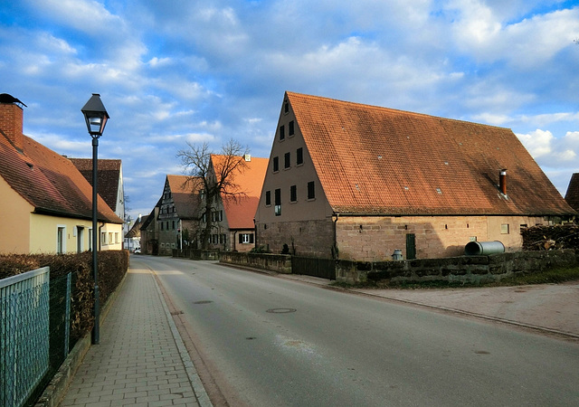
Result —
<svg viewBox="0 0 579 407"><path fill-rule="evenodd" d="M579 250L579 225L532 226L522 229L523 250Z"/></svg>

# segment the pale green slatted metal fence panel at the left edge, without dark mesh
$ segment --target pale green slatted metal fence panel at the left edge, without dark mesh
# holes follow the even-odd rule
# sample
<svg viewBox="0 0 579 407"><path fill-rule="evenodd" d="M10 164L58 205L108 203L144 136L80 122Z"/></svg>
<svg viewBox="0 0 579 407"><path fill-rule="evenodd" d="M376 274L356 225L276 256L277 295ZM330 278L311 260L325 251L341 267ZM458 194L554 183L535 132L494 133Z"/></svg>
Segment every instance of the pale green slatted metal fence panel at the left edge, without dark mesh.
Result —
<svg viewBox="0 0 579 407"><path fill-rule="evenodd" d="M22 405L48 372L48 267L0 280L0 404Z"/></svg>

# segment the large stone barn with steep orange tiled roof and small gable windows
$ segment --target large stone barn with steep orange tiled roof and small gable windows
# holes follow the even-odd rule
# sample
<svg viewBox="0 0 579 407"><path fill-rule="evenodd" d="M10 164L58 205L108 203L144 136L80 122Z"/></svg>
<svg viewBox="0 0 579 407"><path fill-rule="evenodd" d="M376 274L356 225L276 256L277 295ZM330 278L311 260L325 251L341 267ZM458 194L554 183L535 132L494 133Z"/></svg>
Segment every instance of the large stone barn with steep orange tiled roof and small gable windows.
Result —
<svg viewBox="0 0 579 407"><path fill-rule="evenodd" d="M255 228L274 252L424 259L574 214L508 128L286 92Z"/></svg>

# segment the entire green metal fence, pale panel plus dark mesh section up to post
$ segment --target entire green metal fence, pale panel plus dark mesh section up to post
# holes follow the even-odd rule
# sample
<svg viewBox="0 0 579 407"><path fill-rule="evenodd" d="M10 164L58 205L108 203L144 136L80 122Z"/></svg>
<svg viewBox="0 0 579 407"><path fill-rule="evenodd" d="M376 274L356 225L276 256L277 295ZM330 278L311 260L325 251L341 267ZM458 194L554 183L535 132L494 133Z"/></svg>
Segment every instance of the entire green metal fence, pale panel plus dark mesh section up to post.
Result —
<svg viewBox="0 0 579 407"><path fill-rule="evenodd" d="M69 354L74 277L0 279L0 406L33 405Z"/></svg>

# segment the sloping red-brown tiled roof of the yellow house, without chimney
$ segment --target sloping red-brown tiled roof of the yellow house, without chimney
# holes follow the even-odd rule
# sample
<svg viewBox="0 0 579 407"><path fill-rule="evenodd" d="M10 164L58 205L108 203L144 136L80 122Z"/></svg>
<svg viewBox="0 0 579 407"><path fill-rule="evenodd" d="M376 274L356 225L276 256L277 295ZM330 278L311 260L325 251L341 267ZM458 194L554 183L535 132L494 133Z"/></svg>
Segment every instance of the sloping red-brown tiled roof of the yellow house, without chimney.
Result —
<svg viewBox="0 0 579 407"><path fill-rule="evenodd" d="M23 152L0 133L0 175L35 212L92 219L92 187L71 161L30 137ZM99 220L122 223L99 196Z"/></svg>

